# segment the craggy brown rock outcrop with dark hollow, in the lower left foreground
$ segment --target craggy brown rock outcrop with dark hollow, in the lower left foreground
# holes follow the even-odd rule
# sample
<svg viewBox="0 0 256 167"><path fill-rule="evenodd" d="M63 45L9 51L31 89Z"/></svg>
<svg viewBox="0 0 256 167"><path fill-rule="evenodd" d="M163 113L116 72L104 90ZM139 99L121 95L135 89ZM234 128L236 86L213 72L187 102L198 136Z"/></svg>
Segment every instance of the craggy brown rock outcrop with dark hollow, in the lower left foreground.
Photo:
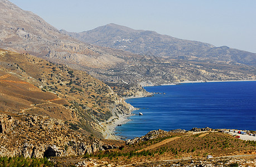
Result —
<svg viewBox="0 0 256 167"><path fill-rule="evenodd" d="M64 121L47 116L0 114L0 122L0 156L48 158L118 148L74 131Z"/></svg>

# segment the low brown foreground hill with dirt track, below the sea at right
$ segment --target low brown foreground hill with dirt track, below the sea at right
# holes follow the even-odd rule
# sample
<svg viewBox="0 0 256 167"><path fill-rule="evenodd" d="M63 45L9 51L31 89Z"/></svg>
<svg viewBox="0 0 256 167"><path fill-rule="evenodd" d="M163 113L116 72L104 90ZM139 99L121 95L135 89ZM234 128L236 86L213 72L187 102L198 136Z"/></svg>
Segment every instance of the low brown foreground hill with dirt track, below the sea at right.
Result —
<svg viewBox="0 0 256 167"><path fill-rule="evenodd" d="M86 154L82 159L53 159L60 166L253 166L255 144L209 127L200 131L153 130L117 149ZM214 158L206 159L207 155Z"/></svg>

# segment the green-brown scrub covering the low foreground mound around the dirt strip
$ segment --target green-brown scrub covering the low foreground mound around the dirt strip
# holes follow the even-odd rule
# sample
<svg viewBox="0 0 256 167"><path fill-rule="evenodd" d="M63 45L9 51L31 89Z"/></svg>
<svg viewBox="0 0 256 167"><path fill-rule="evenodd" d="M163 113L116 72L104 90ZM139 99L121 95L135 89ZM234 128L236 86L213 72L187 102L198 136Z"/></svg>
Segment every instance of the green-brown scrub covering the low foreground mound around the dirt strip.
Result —
<svg viewBox="0 0 256 167"><path fill-rule="evenodd" d="M181 135L180 138L163 145L157 145L163 140ZM136 144L125 145L119 149L98 151L95 154L86 154L84 158L107 158L112 159L140 159L141 156L149 158L165 157L167 159L178 159L182 157L206 157L207 155L232 155L236 151L240 154L252 154L256 141L243 141L221 132L210 132L207 135L183 136L178 133L158 135L155 139L139 141ZM148 146L153 146L146 149ZM142 158L144 159L144 158ZM233 164L235 165L235 164Z"/></svg>

